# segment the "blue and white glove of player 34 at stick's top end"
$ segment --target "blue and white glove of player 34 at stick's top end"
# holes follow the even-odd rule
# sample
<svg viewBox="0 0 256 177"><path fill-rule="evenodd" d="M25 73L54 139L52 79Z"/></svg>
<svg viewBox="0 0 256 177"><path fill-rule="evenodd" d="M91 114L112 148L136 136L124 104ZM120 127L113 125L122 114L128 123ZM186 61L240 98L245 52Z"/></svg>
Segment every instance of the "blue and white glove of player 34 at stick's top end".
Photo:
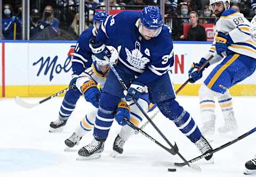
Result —
<svg viewBox="0 0 256 177"><path fill-rule="evenodd" d="M105 44L101 42L96 43L94 39L91 39L89 41L89 46L94 56L97 57L99 60L109 60L109 58L111 57L111 53Z"/></svg>

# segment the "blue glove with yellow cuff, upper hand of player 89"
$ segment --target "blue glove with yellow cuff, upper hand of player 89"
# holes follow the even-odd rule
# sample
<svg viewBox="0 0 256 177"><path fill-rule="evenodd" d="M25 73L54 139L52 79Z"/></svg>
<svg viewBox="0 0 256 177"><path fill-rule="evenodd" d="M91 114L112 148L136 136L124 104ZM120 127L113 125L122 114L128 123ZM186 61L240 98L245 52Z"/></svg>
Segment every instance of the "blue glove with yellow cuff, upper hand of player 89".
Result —
<svg viewBox="0 0 256 177"><path fill-rule="evenodd" d="M216 37L216 52L218 55L222 56L222 52L226 52L228 50L228 45L234 44L233 40L229 36L229 34L225 35L222 32L218 32L218 36Z"/></svg>

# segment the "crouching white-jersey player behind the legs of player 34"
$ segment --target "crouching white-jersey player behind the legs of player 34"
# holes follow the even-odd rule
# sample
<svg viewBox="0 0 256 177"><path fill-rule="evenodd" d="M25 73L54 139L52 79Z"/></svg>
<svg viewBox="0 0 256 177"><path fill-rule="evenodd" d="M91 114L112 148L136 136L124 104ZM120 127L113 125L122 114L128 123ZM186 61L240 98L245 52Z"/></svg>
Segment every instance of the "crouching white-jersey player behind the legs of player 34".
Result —
<svg viewBox="0 0 256 177"><path fill-rule="evenodd" d="M117 61L118 52L117 50L114 49L114 47L108 46L108 48L110 49L110 52L111 52L110 62L111 64L115 64ZM92 63L91 68L86 69L77 78L76 87L84 95L91 95L91 98L95 96L95 99L90 99L91 102L99 102L97 97L99 97L100 95L100 90L97 88L97 85L100 85L100 87L104 86L108 71L109 71L108 62L98 60L98 58L95 58L95 61ZM143 94L138 100L138 102L146 112L149 110L150 103L148 100L148 94ZM95 105L97 103L92 103L92 104ZM119 107L121 107L120 104L118 105ZM142 121L143 114L135 104L132 104L130 106L130 111L131 111L130 121L138 126L139 123ZM94 122L95 122L95 117L97 115L97 112L98 112L97 107L93 106L92 108L90 108L90 112L88 112L85 115L85 117L83 117L81 122L79 122L78 127L75 129L75 132L68 139L65 140L65 144L68 146L68 148L72 148L75 145L78 145L82 137L87 132L90 132L94 128L95 126ZM118 113L116 113L115 115L116 119L118 119L117 116L122 116L117 114ZM113 152L110 154L112 157L116 157L118 154L123 153L123 146L125 142L129 139L129 137L132 136L132 134L134 134L134 130L131 127L129 127L128 125L124 125L122 127L121 131L118 133L117 137L115 138L115 141L113 144ZM66 150L68 150L68 148Z"/></svg>

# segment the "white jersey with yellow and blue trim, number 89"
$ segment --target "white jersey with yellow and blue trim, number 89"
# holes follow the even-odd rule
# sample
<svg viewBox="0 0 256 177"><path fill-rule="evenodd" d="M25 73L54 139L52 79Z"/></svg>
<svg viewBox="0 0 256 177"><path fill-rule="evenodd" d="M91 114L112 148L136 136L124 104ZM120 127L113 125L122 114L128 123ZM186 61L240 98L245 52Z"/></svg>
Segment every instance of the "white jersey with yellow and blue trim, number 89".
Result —
<svg viewBox="0 0 256 177"><path fill-rule="evenodd" d="M225 10L221 14L220 18L215 22L214 32L215 36L213 44L204 56L205 58L209 58L210 55L215 56L210 64L218 62L221 58L215 52L215 38L218 35L218 32L222 32L225 35L229 34L231 39L234 41L234 44L228 46L229 50L237 54L256 58L256 43L251 36L250 22L242 13L239 13L234 9Z"/></svg>

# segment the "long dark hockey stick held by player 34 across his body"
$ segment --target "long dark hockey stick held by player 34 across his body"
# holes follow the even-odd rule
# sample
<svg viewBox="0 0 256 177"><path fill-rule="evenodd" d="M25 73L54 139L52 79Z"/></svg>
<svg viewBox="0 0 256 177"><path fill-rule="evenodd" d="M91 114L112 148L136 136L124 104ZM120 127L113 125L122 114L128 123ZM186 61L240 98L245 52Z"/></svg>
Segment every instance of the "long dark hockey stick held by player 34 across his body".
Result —
<svg viewBox="0 0 256 177"><path fill-rule="evenodd" d="M123 79L120 77L120 75L118 74L118 72L116 71L116 69L114 68L113 65L111 65L110 61L108 63L110 69L114 72L114 74L116 75L116 78L118 79L118 81L121 83L121 85L123 86L124 90L128 90L127 86L125 85ZM161 137L167 142L167 144L169 146L171 146L171 150L172 153L174 154L178 154L178 156L186 163L186 165L188 165L189 167L190 164L189 162L179 153L179 149L176 145L176 143L174 144L174 146L176 145L176 147L174 147L171 142L164 136L164 134L158 129L158 127L155 125L155 123L150 119L150 117L147 115L147 113L142 109L142 107L139 105L139 103L137 102L137 100L135 98L133 98L133 102L137 105L137 107L140 109L140 111L142 112L142 114L147 118L147 120L150 122L150 124L155 128L155 130L161 135ZM192 168L192 167L191 167ZM193 168L195 169L195 168ZM195 169L198 170L198 169Z"/></svg>

